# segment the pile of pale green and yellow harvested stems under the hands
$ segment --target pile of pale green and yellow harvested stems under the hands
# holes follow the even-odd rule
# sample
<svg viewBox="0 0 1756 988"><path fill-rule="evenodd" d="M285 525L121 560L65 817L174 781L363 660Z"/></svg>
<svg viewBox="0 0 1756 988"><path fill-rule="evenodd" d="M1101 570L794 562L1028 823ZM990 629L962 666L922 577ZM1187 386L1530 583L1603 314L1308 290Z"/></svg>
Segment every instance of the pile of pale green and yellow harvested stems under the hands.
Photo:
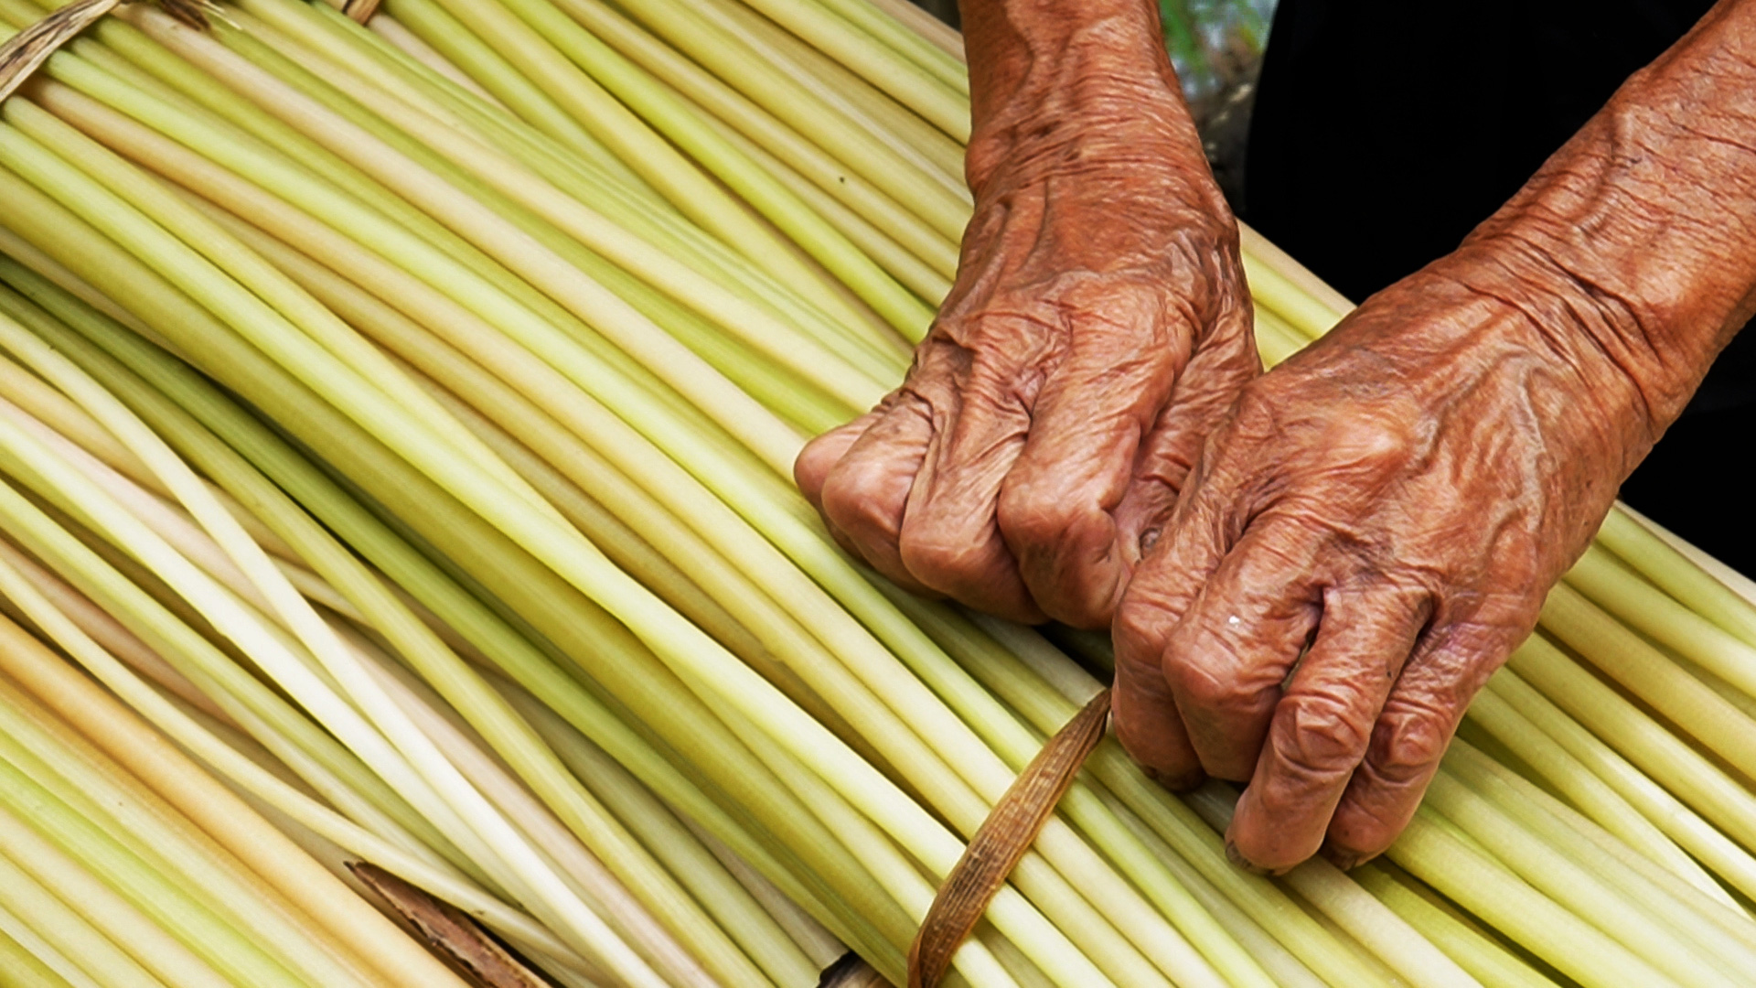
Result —
<svg viewBox="0 0 1756 988"><path fill-rule="evenodd" d="M126 7L0 105L4 979L458 984L369 861L557 984L899 983L1105 661L899 594L788 482L950 285L955 37L896 0L207 19ZM1347 309L1245 246L1268 360ZM1612 515L1349 874L1231 867L1231 789L1103 742L952 977L1756 983L1752 599Z"/></svg>

